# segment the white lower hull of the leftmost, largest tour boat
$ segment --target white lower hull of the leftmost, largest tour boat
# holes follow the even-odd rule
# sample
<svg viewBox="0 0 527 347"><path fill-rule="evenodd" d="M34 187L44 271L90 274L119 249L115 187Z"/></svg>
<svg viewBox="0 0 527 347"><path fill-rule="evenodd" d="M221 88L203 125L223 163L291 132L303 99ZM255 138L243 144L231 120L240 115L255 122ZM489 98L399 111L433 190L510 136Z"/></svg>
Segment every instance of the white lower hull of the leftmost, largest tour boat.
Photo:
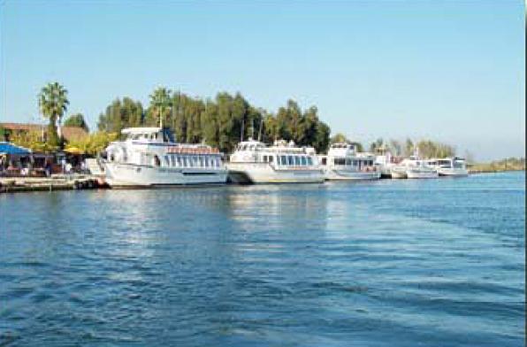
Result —
<svg viewBox="0 0 527 347"><path fill-rule="evenodd" d="M105 163L106 182L116 187L225 184L225 169L192 169Z"/></svg>

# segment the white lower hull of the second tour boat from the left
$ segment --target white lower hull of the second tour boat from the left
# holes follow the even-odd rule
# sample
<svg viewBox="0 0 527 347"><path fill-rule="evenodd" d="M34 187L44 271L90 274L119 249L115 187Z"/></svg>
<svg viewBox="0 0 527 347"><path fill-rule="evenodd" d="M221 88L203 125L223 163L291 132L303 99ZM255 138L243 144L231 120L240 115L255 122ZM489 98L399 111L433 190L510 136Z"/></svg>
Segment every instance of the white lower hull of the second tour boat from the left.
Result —
<svg viewBox="0 0 527 347"><path fill-rule="evenodd" d="M322 183L320 169L275 169L266 163L230 163L229 181L236 184L255 183Z"/></svg>

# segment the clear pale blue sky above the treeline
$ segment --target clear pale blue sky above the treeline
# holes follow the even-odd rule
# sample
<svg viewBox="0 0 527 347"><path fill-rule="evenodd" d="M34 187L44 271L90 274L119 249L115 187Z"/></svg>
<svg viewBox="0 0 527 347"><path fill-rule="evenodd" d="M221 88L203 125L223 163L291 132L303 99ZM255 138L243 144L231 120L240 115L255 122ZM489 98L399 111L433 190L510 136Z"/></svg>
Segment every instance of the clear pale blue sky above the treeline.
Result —
<svg viewBox="0 0 527 347"><path fill-rule="evenodd" d="M524 156L522 0L0 0L0 120L34 121L49 81L90 127L157 86L318 107L332 132Z"/></svg>

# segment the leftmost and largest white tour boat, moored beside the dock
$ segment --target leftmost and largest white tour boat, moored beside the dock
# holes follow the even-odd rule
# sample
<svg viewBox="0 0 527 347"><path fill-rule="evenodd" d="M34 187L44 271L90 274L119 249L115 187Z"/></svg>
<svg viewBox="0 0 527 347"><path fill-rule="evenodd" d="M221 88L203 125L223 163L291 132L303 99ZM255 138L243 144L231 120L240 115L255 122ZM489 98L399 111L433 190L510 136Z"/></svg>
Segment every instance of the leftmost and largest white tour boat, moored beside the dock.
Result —
<svg viewBox="0 0 527 347"><path fill-rule="evenodd" d="M104 172L111 187L226 182L227 170L217 149L176 143L161 127L131 127L121 133L126 139L105 150Z"/></svg>

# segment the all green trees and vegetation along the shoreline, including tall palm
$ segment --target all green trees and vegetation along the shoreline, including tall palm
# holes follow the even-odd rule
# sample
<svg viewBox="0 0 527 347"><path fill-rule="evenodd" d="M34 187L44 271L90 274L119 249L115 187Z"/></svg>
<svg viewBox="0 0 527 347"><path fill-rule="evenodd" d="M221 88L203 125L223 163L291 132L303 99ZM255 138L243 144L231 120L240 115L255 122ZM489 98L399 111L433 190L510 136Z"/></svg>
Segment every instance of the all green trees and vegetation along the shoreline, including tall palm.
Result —
<svg viewBox="0 0 527 347"><path fill-rule="evenodd" d="M250 104L241 93L231 95L219 92L214 98L188 96L164 87L155 89L149 96L149 105L131 97L114 99L99 114L95 132L89 133L88 123L82 113L65 118L69 106L68 90L57 81L41 89L37 96L42 118L48 120L40 131L7 134L0 125L0 141L10 141L35 152L52 153L75 148L95 157L109 143L118 140L125 127L169 127L180 143L206 143L224 153L230 153L236 144L249 137L264 143L278 139L293 140L299 146L312 146L317 153L325 153L330 143L350 142L346 135L332 135L331 128L318 117L316 105L302 110L293 99L276 112ZM65 141L61 126L81 127L88 135ZM332 136L331 136L332 135ZM353 139L355 140L355 139ZM416 151L421 158L447 158L457 155L455 147L428 139L413 142L378 138L364 146L354 142L359 151L369 150L382 154L389 151L394 157L409 157ZM491 163L474 163L469 152L465 153L471 173L524 170L524 158L506 158Z"/></svg>

